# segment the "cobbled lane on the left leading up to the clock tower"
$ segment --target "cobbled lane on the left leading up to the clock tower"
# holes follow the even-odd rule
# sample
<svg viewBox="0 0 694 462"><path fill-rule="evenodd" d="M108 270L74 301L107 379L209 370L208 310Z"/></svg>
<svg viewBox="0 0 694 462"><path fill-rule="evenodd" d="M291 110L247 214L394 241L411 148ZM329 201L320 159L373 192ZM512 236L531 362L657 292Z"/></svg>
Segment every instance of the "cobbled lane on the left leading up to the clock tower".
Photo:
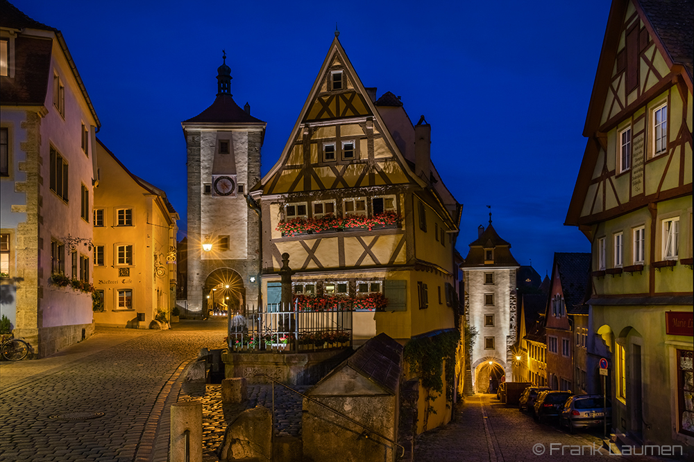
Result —
<svg viewBox="0 0 694 462"><path fill-rule="evenodd" d="M199 348L221 348L226 332L150 332L7 389L0 385L0 461L152 459L147 445L155 439L151 423L163 415L162 388ZM76 412L104 415L51 418Z"/></svg>

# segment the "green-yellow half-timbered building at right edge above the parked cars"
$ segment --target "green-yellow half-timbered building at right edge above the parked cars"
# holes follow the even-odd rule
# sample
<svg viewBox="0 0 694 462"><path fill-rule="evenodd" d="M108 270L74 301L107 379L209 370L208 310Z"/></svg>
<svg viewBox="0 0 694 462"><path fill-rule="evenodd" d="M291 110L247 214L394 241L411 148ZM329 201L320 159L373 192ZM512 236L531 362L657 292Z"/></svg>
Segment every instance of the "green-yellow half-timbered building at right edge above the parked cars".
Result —
<svg viewBox="0 0 694 462"><path fill-rule="evenodd" d="M593 246L613 430L690 448L693 38L692 1L613 1L566 217Z"/></svg>

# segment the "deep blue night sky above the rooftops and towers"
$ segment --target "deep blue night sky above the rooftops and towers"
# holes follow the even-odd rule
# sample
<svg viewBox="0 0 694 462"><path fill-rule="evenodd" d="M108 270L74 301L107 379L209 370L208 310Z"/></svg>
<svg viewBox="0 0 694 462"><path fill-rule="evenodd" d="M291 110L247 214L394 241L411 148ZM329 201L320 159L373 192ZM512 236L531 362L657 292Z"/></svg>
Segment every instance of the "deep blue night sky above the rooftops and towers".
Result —
<svg viewBox="0 0 694 462"><path fill-rule="evenodd" d="M180 122L212 104L221 50L239 106L267 122L277 161L335 33L365 87L432 125L432 161L464 204L457 249L486 226L521 265L590 251L564 218L609 0L222 2L15 0L62 31L101 120L99 139L164 189L186 227ZM103 172L102 172L103 174ZM183 233L180 233L183 236Z"/></svg>

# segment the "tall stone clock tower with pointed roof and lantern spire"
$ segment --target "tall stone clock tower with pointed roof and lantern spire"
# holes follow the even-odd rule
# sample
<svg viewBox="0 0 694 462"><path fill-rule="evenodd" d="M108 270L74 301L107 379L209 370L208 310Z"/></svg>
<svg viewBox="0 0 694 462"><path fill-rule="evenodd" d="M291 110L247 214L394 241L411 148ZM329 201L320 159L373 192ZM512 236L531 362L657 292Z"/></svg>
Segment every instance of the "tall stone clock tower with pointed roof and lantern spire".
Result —
<svg viewBox="0 0 694 462"><path fill-rule="evenodd" d="M217 98L183 121L188 170L188 310L244 310L257 302L260 283L258 216L248 188L260 180L266 123L239 107L231 69L217 69ZM208 251L204 247L211 249Z"/></svg>

